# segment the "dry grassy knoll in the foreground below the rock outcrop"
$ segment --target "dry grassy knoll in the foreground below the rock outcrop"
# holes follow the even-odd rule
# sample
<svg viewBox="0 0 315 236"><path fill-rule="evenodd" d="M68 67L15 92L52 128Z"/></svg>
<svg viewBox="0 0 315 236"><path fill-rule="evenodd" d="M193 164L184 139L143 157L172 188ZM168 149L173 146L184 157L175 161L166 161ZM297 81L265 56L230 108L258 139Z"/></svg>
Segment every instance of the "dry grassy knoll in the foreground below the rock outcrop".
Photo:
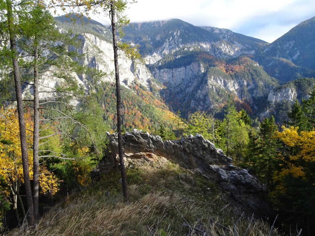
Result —
<svg viewBox="0 0 315 236"><path fill-rule="evenodd" d="M242 214L214 183L176 165L142 166L127 173L129 205L114 173L52 208L36 232L15 229L5 235L280 235L268 223Z"/></svg>

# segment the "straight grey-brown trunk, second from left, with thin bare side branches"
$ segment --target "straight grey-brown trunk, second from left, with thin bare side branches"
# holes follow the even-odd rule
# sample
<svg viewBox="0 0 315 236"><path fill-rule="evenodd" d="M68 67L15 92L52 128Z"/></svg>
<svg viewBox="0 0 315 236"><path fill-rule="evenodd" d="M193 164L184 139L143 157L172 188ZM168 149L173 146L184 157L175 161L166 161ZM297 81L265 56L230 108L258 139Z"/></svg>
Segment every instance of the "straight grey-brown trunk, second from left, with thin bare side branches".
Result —
<svg viewBox="0 0 315 236"><path fill-rule="evenodd" d="M34 202L34 220L39 219L38 214L38 188L39 188L39 98L38 98L38 46L35 39L34 48L34 127L33 127L33 202Z"/></svg>

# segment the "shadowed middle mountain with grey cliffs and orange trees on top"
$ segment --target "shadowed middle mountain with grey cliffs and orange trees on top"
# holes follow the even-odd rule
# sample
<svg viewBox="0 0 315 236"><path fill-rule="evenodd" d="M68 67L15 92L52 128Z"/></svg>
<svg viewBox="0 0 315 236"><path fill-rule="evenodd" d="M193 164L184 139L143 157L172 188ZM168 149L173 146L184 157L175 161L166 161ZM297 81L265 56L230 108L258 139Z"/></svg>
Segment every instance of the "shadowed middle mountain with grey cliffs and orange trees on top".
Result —
<svg viewBox="0 0 315 236"><path fill-rule="evenodd" d="M165 88L163 98L182 114L196 110L218 112L232 96L250 114L266 103L278 82L247 56L218 59L209 53L191 51L150 66L153 76Z"/></svg>

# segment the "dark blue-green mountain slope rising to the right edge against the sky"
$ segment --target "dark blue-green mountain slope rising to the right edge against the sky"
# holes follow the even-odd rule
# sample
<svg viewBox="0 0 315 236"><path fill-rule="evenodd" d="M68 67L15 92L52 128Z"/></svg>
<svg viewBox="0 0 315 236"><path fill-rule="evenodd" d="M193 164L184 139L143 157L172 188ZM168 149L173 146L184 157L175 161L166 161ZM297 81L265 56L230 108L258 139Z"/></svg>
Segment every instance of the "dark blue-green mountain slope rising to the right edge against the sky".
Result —
<svg viewBox="0 0 315 236"><path fill-rule="evenodd" d="M296 25L272 42L263 54L289 59L295 65L315 69L315 17Z"/></svg>

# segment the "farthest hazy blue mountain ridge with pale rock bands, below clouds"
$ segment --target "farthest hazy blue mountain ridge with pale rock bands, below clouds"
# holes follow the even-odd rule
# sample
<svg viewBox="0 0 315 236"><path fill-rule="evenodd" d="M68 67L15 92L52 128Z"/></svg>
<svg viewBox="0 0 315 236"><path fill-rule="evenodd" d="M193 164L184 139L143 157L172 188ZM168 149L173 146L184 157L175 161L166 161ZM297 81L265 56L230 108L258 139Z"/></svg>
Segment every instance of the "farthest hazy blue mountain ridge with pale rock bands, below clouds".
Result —
<svg viewBox="0 0 315 236"><path fill-rule="evenodd" d="M132 27L131 27L132 25ZM140 45L140 53L154 64L181 48L201 49L219 58L261 51L266 42L225 29L197 27L182 20L133 23L124 27L123 41Z"/></svg>

